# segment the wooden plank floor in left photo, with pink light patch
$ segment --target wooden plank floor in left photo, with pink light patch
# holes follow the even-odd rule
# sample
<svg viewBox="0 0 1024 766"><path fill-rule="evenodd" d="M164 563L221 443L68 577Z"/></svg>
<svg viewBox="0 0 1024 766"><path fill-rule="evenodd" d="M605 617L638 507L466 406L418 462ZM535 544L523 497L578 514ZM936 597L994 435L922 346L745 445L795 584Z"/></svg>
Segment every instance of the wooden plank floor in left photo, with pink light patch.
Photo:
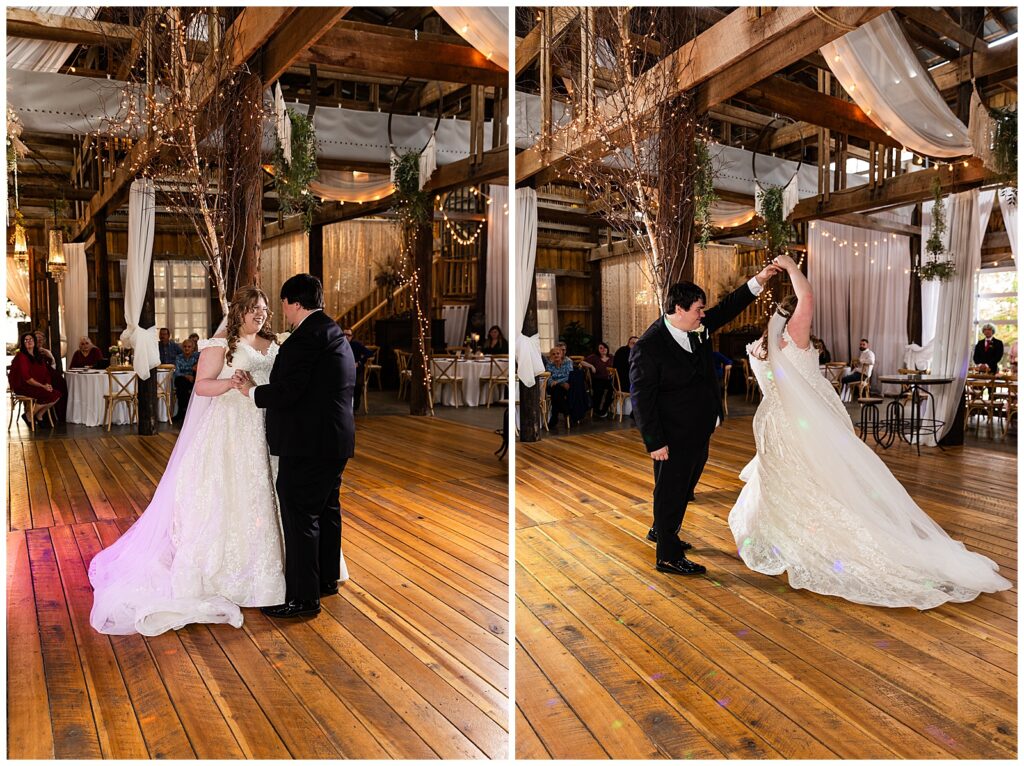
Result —
<svg viewBox="0 0 1024 766"><path fill-rule="evenodd" d="M24 440L22 439L24 437ZM173 446L11 432L7 740L15 758L505 758L508 474L486 430L360 419L351 580L307 621L155 638L89 627L89 561Z"/></svg>

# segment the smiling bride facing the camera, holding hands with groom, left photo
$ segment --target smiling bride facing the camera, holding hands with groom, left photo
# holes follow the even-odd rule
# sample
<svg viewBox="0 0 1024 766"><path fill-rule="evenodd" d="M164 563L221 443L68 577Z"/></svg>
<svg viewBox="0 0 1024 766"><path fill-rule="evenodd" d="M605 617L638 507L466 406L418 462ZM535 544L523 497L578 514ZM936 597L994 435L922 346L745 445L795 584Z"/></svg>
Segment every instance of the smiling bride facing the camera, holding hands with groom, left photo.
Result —
<svg viewBox="0 0 1024 766"><path fill-rule="evenodd" d="M89 565L90 623L100 633L158 635L190 623L242 625L241 606L285 600L276 462L264 414L232 380L266 383L278 355L266 295L240 288L227 318L200 341L193 398L148 508ZM182 402L183 405L183 402ZM347 579L342 559L340 579Z"/></svg>

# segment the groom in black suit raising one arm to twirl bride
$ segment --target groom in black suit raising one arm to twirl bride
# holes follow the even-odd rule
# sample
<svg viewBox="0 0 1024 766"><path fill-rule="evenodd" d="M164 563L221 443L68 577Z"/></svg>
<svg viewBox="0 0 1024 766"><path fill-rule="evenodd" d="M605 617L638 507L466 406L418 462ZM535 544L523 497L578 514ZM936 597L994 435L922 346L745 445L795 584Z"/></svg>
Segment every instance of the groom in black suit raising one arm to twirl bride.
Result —
<svg viewBox="0 0 1024 766"><path fill-rule="evenodd" d="M666 314L647 328L630 354L633 413L654 461L655 568L670 574L702 574L686 558L679 539L686 504L708 460L711 435L722 419L722 394L712 358L711 334L727 325L781 270L766 266L757 276L705 309L707 296L692 282L669 289Z"/></svg>

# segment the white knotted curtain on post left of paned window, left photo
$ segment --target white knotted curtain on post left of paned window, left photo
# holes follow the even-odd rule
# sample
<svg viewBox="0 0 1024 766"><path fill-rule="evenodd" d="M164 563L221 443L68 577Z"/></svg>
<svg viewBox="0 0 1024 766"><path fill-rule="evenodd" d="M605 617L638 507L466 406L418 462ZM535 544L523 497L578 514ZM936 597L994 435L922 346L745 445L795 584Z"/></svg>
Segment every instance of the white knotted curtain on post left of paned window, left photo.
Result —
<svg viewBox="0 0 1024 766"><path fill-rule="evenodd" d="M153 237L157 222L157 189L152 178L132 182L128 194L128 270L125 274L125 330L121 341L135 349L135 372L147 380L160 364L157 328L141 328L142 301L153 269Z"/></svg>

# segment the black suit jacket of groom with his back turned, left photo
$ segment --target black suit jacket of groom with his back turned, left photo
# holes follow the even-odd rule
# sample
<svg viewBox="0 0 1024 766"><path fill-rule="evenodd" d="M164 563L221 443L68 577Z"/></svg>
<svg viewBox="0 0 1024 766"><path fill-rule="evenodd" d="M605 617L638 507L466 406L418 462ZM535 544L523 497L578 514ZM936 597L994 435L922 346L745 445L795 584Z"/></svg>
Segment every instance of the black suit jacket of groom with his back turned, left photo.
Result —
<svg viewBox="0 0 1024 766"><path fill-rule="evenodd" d="M355 450L355 359L338 324L309 314L282 344L270 382L253 389L266 409L270 454L350 458Z"/></svg>

